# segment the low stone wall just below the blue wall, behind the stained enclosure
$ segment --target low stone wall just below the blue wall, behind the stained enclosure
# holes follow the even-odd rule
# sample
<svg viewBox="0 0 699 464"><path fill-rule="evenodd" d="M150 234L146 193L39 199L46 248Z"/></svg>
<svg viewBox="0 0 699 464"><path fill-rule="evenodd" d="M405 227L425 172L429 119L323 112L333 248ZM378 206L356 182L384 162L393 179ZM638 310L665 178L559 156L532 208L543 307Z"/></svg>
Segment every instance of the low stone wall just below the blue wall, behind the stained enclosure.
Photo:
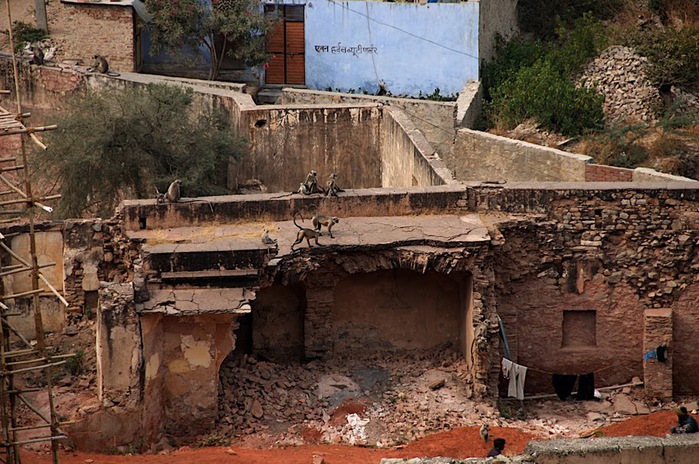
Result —
<svg viewBox="0 0 699 464"><path fill-rule="evenodd" d="M459 97L460 98L460 97ZM351 104L381 104L391 108L399 108L422 132L434 150L441 156L451 153L454 145L454 125L456 105L454 102L436 102L430 100L415 100L386 96L347 94L338 92L323 92L285 88L282 91L279 104L313 104L327 105L336 103ZM409 185L409 184L408 184Z"/></svg>

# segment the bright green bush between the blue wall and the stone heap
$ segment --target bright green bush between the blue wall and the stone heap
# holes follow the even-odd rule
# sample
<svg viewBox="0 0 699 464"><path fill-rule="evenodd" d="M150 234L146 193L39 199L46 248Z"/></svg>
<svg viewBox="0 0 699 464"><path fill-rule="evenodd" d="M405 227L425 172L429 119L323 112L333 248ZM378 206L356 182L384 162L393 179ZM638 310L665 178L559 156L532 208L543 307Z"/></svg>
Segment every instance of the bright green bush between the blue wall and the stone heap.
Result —
<svg viewBox="0 0 699 464"><path fill-rule="evenodd" d="M535 118L549 130L576 136L603 126L602 103L603 97L575 87L552 62L539 60L492 92L488 112L498 127Z"/></svg>

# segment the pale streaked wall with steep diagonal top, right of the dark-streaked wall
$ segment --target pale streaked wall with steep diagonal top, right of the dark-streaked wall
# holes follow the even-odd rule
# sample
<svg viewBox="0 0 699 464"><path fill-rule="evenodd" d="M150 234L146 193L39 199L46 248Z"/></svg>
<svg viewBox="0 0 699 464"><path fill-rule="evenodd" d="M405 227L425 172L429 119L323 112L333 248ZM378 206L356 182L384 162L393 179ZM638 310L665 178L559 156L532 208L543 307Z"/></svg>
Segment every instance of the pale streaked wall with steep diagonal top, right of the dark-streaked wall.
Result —
<svg viewBox="0 0 699 464"><path fill-rule="evenodd" d="M454 183L451 172L401 110L384 108L381 186L431 187Z"/></svg>

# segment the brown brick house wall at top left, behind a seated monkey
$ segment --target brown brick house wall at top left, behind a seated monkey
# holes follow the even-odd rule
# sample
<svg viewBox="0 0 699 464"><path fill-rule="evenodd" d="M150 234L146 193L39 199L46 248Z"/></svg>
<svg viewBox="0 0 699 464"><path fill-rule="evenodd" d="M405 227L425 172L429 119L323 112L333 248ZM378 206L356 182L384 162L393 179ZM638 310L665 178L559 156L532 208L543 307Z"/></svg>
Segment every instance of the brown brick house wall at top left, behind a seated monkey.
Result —
<svg viewBox="0 0 699 464"><path fill-rule="evenodd" d="M136 17L128 2L102 4L51 2L47 5L49 29L60 34L60 59L81 59L92 65L102 55L114 71L136 69ZM64 29L55 29L55 24Z"/></svg>

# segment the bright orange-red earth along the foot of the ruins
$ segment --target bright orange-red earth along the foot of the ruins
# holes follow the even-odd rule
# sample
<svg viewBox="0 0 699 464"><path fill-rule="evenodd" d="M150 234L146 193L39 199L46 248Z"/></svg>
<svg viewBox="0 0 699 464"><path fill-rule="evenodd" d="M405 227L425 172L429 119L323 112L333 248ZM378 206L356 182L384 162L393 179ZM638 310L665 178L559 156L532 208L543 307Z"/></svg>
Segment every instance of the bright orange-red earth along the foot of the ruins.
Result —
<svg viewBox="0 0 699 464"><path fill-rule="evenodd" d="M671 425L677 422L672 411L659 411L646 416L633 417L624 422L604 427L604 436L627 435L664 436ZM505 454L515 455L524 451L527 442L539 437L517 429L493 427L492 437L507 441ZM591 438L590 440L594 440ZM490 446L483 443L477 427L459 427L435 433L414 441L401 448L376 449L341 445L304 445L286 448L254 449L243 447L180 448L162 455L113 456L80 452L63 452L63 464L310 464L314 456L323 458L325 464L378 464L387 457L436 457L454 458L485 456ZM22 452L25 464L50 464L51 456Z"/></svg>

